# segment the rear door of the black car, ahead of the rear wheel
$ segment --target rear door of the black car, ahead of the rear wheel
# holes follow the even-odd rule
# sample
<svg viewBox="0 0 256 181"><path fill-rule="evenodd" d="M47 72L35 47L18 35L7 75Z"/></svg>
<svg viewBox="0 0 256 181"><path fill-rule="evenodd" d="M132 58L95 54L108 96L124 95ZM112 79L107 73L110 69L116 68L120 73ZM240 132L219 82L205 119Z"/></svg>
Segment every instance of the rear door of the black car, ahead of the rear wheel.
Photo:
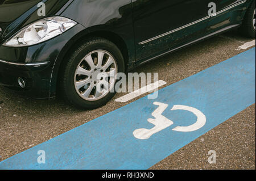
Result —
<svg viewBox="0 0 256 181"><path fill-rule="evenodd" d="M218 31L227 26L237 23L241 20L239 13L241 11L234 11L242 7L246 2L244 0L207 0L207 3L215 3L216 14L212 16L208 23L207 32L211 33ZM239 19L240 18L240 19Z"/></svg>

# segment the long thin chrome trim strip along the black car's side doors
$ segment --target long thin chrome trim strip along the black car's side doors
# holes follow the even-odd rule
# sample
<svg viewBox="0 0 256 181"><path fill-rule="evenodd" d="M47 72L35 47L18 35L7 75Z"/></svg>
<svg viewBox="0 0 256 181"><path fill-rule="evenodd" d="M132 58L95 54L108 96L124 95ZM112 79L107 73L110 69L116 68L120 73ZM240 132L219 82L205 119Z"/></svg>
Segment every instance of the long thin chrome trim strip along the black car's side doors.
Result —
<svg viewBox="0 0 256 181"><path fill-rule="evenodd" d="M230 6L230 7L227 7L227 8L224 9L224 10L221 10L221 11L216 12L216 14L213 14L213 15L210 15L210 16L206 16L205 18L196 20L195 22L186 24L186 25L184 25L184 26L182 26L182 27L176 28L175 30L172 30L172 31L163 33L162 35L158 35L158 36L152 37L151 39L142 41L142 42L139 43L139 44L143 45L143 44L146 44L146 43L148 43L148 42L150 42L150 41L159 39L160 37L163 37L163 36L166 36L166 35L170 35L171 33L174 33L174 32L176 32L176 31L179 31L179 30L182 30L182 29L187 28L187 27L189 27L189 26L192 26L193 24L200 23L200 22L202 22L203 20L207 20L207 19L211 18L212 16L216 16L216 15L218 15L218 14L221 14L222 12L225 12L225 11L227 11L227 10L229 10L229 9L232 9L233 7L242 5L242 4L245 3L245 2L246 2L246 0L243 0L243 1L241 1L241 2L236 3L235 5L232 5L232 6Z"/></svg>

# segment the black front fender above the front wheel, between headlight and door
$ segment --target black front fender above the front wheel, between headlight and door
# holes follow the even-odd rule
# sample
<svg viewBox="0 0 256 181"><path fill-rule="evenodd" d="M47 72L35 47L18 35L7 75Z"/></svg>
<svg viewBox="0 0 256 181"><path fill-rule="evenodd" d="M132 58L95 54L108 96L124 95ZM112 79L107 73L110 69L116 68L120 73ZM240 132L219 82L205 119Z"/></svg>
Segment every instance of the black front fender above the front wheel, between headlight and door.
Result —
<svg viewBox="0 0 256 181"><path fill-rule="evenodd" d="M132 10L131 0L74 1L61 16L72 16L86 28L85 33L112 32L121 37L127 47L127 64L131 64L135 60Z"/></svg>

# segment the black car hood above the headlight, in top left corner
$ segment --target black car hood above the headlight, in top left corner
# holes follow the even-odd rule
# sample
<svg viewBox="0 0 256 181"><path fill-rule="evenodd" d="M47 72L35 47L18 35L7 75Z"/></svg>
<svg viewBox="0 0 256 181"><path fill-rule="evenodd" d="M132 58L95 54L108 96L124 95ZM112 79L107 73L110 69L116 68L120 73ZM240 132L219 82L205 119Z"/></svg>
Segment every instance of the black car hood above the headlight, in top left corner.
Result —
<svg viewBox="0 0 256 181"><path fill-rule="evenodd" d="M9 37L23 26L42 19L38 3L46 5L46 16L56 15L71 0L0 0L0 38Z"/></svg>

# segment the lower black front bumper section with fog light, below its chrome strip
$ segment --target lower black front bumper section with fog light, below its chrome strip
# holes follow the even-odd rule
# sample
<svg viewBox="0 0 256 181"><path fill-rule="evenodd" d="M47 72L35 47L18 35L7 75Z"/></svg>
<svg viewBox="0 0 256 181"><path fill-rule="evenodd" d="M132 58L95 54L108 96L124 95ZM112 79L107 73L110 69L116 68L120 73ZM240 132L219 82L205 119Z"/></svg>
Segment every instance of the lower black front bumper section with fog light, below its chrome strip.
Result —
<svg viewBox="0 0 256 181"><path fill-rule="evenodd" d="M49 98L50 83L47 77L52 70L49 65L50 62L18 64L0 60L0 85L32 98ZM23 79L23 88L18 78Z"/></svg>

